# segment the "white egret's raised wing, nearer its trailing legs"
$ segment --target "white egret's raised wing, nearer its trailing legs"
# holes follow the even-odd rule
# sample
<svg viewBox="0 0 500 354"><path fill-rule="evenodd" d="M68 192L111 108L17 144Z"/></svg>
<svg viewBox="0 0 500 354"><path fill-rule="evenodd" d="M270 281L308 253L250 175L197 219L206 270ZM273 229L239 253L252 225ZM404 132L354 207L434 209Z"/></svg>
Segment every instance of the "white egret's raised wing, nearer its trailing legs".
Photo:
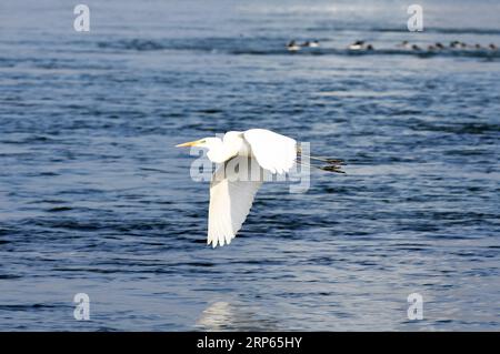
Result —
<svg viewBox="0 0 500 354"><path fill-rule="evenodd" d="M297 141L266 129L250 129L243 134L253 156L271 173L288 172L297 159Z"/></svg>

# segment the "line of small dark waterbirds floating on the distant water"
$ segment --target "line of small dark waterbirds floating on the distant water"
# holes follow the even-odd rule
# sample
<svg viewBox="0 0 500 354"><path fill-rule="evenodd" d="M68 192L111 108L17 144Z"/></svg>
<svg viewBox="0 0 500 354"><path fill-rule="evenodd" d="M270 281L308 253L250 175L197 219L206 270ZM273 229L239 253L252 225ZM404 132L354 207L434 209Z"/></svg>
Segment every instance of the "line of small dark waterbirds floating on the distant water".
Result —
<svg viewBox="0 0 500 354"><path fill-rule="evenodd" d="M287 49L291 52L297 52L303 48L318 48L320 47L319 41L306 41L303 43L298 43L297 41L292 40L287 44ZM410 50L414 52L422 52L427 50L428 52L437 52L442 50L489 50L489 51L497 51L498 47L493 43L490 43L489 45L481 45L481 44L467 44L461 41L452 41L449 45L442 44L441 42L437 42L434 44L429 44L426 47L420 47L418 44L411 44L409 41L402 41L397 45L400 49L403 50ZM356 41L351 43L348 48L350 51L372 51L374 50L373 44L367 43L366 41Z"/></svg>

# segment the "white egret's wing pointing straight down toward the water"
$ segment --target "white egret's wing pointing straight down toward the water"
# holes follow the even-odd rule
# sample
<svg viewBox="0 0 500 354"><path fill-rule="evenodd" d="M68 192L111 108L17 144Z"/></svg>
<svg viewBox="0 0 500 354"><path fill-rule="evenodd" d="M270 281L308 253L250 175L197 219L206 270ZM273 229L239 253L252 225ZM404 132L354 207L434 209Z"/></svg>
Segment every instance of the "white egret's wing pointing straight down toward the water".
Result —
<svg viewBox="0 0 500 354"><path fill-rule="evenodd" d="M213 247L218 244L223 246L234 239L262 184L261 171L256 160L236 156L213 173L210 183L208 244L211 243Z"/></svg>

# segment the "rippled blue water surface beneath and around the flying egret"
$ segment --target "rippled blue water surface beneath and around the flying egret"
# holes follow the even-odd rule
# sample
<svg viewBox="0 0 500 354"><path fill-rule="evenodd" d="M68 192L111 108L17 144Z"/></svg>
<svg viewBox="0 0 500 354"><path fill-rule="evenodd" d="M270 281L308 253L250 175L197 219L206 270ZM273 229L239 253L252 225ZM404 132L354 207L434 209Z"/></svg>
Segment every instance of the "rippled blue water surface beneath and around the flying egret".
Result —
<svg viewBox="0 0 500 354"><path fill-rule="evenodd" d="M499 2L420 1L422 33L406 1L86 3L0 3L1 331L500 330L500 53L396 48L499 45ZM250 128L347 174L266 184L212 250L173 145Z"/></svg>

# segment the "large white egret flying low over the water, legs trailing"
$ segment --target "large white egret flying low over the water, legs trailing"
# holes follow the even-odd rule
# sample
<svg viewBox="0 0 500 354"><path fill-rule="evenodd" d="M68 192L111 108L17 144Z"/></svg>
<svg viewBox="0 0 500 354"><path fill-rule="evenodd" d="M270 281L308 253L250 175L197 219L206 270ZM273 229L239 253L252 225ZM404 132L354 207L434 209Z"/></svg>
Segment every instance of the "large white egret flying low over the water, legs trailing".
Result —
<svg viewBox="0 0 500 354"><path fill-rule="evenodd" d="M223 246L231 243L247 219L264 171L282 174L303 156L294 139L266 129L230 131L222 139L203 138L176 145L208 150L210 161L220 164L210 183L207 243ZM313 158L327 163L319 169L343 173L341 160ZM314 165L316 166L316 165ZM318 168L318 166L316 166Z"/></svg>

